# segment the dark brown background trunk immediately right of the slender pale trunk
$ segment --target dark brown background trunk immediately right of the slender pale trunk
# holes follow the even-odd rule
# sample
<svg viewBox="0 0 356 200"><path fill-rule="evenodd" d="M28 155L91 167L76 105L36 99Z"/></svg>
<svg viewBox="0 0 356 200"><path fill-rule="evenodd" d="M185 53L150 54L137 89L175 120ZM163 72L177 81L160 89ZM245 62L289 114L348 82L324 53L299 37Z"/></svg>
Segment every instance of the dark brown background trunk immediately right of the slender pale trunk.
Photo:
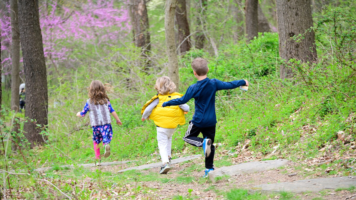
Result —
<svg viewBox="0 0 356 200"><path fill-rule="evenodd" d="M176 17L178 23L178 45L180 45L180 53L184 53L190 50L190 32L185 0L177 0Z"/></svg>

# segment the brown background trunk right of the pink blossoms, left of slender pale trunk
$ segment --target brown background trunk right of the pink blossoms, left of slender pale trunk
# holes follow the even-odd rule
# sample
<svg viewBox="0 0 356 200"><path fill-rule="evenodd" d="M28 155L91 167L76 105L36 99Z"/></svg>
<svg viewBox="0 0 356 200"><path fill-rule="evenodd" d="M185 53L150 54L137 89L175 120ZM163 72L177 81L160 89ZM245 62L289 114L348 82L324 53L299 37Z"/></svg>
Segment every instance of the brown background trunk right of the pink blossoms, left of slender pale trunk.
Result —
<svg viewBox="0 0 356 200"><path fill-rule="evenodd" d="M147 54L151 50L150 26L146 0L130 0L130 17L132 23L133 42L136 47L141 47Z"/></svg>

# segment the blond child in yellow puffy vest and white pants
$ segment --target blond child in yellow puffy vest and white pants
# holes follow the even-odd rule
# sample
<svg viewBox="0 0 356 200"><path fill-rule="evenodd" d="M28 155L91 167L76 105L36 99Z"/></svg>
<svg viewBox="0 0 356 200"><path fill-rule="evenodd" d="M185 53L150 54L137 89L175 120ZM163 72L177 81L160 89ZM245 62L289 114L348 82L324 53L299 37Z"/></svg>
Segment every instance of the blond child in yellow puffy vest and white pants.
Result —
<svg viewBox="0 0 356 200"><path fill-rule="evenodd" d="M171 163L172 135L178 125L185 124L184 114L189 112L189 106L182 104L162 107L164 102L183 96L183 94L174 92L176 85L169 77L159 77L156 81L155 89L158 94L143 105L141 120L151 119L157 126L158 149L162 159L162 167L159 173L167 174Z"/></svg>

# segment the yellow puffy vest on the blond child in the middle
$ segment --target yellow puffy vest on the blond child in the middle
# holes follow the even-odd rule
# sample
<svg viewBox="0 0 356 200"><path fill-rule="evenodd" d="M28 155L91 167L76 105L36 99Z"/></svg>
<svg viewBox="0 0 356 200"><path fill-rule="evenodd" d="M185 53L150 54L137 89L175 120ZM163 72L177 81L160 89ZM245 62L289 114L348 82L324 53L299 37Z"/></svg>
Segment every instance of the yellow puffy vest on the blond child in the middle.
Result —
<svg viewBox="0 0 356 200"><path fill-rule="evenodd" d="M159 103L155 108L153 108L150 119L153 120L157 126L162 128L177 128L178 125L184 125L184 111L180 109L179 106L161 107L164 102L172 99L178 99L182 96L183 94L180 93L155 95L150 100L148 100L145 105L143 105L141 115L143 114L143 111L145 111L146 107L150 105L153 100L158 98Z"/></svg>

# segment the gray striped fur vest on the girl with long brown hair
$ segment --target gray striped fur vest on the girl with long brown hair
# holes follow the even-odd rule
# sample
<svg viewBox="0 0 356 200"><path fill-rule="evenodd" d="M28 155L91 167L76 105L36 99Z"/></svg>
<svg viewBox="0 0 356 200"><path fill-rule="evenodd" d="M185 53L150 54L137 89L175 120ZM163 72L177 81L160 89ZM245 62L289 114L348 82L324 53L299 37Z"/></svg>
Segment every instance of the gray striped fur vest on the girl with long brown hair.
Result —
<svg viewBox="0 0 356 200"><path fill-rule="evenodd" d="M92 104L90 99L87 100L89 105L89 119L91 126L101 126L111 123L109 104L100 105Z"/></svg>

